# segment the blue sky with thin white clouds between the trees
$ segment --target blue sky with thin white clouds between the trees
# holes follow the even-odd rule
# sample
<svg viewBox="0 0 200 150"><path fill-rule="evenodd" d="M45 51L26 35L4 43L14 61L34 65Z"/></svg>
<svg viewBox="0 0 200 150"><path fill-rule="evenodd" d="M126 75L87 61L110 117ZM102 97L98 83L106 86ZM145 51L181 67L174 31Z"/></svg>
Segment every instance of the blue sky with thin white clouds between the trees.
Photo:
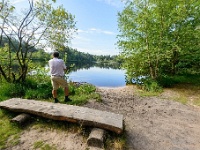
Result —
<svg viewBox="0 0 200 150"><path fill-rule="evenodd" d="M24 6L27 0L12 0ZM93 55L117 55L117 13L123 10L121 0L56 0L75 16L77 33L70 47ZM28 5L27 5L28 6Z"/></svg>

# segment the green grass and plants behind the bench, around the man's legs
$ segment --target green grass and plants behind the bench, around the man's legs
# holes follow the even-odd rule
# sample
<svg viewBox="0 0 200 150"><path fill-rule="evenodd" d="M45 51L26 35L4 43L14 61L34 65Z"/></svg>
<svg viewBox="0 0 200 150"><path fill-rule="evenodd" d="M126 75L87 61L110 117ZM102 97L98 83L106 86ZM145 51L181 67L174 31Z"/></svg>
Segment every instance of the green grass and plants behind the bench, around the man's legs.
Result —
<svg viewBox="0 0 200 150"><path fill-rule="evenodd" d="M52 98L52 85L50 78L45 76L39 76L36 78L28 78L25 83L7 83L1 82L0 84L0 101L20 97L25 99L35 99L43 101L51 101ZM73 100L72 105L83 105L87 103L89 99L101 101L101 97L95 92L96 87L91 84L74 85L69 83L70 98ZM64 103L64 90L58 89L58 99L61 103Z"/></svg>

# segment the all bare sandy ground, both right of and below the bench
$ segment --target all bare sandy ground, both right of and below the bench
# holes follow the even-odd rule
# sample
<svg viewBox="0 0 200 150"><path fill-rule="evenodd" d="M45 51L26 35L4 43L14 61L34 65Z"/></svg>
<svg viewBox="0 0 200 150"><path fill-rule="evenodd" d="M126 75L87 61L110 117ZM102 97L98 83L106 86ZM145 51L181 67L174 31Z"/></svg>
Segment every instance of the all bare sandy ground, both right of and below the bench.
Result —
<svg viewBox="0 0 200 150"><path fill-rule="evenodd" d="M164 91L159 97L139 97L132 86L97 91L103 101L91 100L85 107L124 115L126 149L200 150L200 107L170 100L176 94L173 91ZM31 128L23 131L20 143L9 150L31 150L35 141L45 141L57 150L87 148L78 133Z"/></svg>

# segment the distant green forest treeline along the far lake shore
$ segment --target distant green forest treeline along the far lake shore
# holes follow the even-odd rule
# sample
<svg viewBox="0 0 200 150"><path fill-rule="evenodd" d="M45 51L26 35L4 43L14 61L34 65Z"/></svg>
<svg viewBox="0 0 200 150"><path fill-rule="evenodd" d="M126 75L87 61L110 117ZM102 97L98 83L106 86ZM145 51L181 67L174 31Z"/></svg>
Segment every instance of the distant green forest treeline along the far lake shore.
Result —
<svg viewBox="0 0 200 150"><path fill-rule="evenodd" d="M20 43L14 39L10 39L10 40L13 44L13 46L10 45L10 47L11 47L10 53L14 54L15 53L14 47L18 47ZM0 48L3 49L3 47L7 43L9 43L9 40L6 37L2 37L2 40L0 43ZM25 45L22 43L22 50L23 49L25 49ZM31 60L48 61L49 59L52 58L52 52L46 52L44 49L33 47L29 50L29 52L32 53ZM2 56L2 57L5 57L5 56ZM117 55L113 55L113 56L92 55L89 53L80 52L77 49L70 48L70 47L66 47L60 52L60 58L62 58L66 62L77 62L77 63L80 63L80 62L81 63L84 63L84 62L86 62L86 63L87 62L95 62L95 63L118 62L118 63L120 63L120 60ZM7 58L5 57L5 59L7 59Z"/></svg>

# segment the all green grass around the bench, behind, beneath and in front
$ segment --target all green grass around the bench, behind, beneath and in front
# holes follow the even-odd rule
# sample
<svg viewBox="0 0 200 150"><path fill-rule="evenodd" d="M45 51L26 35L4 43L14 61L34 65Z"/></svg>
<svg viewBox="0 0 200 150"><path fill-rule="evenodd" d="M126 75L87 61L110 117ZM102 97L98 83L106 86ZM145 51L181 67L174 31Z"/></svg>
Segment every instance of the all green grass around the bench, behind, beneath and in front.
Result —
<svg viewBox="0 0 200 150"><path fill-rule="evenodd" d="M46 76L38 76L37 78L28 78L25 83L7 83L0 81L0 101L4 101L10 98L26 98L42 101L51 101L52 98L52 85L50 78ZM101 101L100 95L96 93L96 87L90 84L83 84L76 86L72 83L69 84L70 98L73 100L69 102L73 105L85 104L88 100L93 99ZM58 90L58 99L61 103L64 103L64 91L62 88ZM14 117L14 113L8 113L5 110L0 109L0 149L6 147L12 147L19 143L19 134L22 129L10 122L10 119ZM48 119L37 120L34 126L38 128L56 128L56 130L69 130L71 132L82 132L87 135L87 132L82 127L66 122L53 121ZM8 142L9 140L9 142ZM8 143L9 144L8 144ZM54 150L54 145L48 145L46 143L36 142L35 148L40 146L39 149Z"/></svg>

